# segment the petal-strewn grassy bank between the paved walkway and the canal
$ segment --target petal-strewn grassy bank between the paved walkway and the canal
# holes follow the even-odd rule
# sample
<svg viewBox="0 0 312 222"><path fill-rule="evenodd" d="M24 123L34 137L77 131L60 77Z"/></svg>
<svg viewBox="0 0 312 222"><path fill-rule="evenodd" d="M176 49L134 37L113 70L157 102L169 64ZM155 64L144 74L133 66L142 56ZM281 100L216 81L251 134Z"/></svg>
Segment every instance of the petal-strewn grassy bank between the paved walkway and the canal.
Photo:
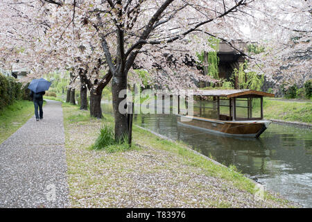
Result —
<svg viewBox="0 0 312 222"><path fill-rule="evenodd" d="M72 207L292 207L276 194L255 195L254 182L235 167L215 164L181 142L134 127L130 151L89 147L103 124L89 112L63 104L69 198Z"/></svg>

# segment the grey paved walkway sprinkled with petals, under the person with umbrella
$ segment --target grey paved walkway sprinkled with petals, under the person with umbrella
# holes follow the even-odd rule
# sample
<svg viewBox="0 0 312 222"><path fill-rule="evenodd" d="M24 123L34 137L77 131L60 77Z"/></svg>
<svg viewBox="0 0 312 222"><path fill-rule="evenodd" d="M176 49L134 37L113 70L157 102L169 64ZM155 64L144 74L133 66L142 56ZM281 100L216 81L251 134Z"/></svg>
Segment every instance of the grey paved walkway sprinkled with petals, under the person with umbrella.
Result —
<svg viewBox="0 0 312 222"><path fill-rule="evenodd" d="M69 206L61 103L43 109L0 144L0 207Z"/></svg>

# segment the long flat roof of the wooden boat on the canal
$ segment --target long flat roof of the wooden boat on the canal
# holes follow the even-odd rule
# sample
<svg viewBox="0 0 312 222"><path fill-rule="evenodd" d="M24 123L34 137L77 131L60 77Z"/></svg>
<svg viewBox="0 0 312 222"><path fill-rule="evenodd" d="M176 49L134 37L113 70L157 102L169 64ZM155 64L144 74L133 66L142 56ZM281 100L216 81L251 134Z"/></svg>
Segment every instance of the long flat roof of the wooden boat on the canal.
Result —
<svg viewBox="0 0 312 222"><path fill-rule="evenodd" d="M194 96L225 96L227 98L237 96L269 96L275 97L275 94L261 92L252 89L198 89Z"/></svg>

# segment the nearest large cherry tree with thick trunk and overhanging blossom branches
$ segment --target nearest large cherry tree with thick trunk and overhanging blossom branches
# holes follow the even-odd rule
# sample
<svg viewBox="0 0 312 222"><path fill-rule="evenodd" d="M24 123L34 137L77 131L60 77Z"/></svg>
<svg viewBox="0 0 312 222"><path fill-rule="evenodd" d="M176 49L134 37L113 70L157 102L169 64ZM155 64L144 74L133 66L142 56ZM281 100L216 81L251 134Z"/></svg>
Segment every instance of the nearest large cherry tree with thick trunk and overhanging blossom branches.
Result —
<svg viewBox="0 0 312 222"><path fill-rule="evenodd" d="M171 78L169 87L177 83L188 85L189 78L177 80L175 70L166 61L165 54L175 53L177 66L184 74L184 55L196 58L196 51L210 51L205 29L207 24L218 26L220 20L238 12L246 1L106 1L96 13L93 25L100 37L107 65L112 72L112 99L115 117L115 136L127 134L127 117L119 112L124 98L119 93L127 88L128 72L135 61L159 75L155 61L166 71L164 78ZM211 7L213 6L213 7ZM214 10L211 10L214 8ZM108 15L108 16L107 16ZM161 74L162 75L162 74ZM166 80L166 79L165 79ZM174 84L174 85L173 85Z"/></svg>

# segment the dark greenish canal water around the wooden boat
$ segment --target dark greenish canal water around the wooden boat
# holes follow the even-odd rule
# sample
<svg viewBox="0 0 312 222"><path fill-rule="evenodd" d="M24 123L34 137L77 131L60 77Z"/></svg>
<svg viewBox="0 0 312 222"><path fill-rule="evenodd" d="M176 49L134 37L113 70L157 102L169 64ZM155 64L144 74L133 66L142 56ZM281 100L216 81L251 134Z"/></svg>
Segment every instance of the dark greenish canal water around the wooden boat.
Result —
<svg viewBox="0 0 312 222"><path fill-rule="evenodd" d="M103 112L112 113L111 103ZM135 114L134 123L181 140L196 151L225 164L284 198L312 207L312 130L271 123L258 138L238 138L182 126L174 114Z"/></svg>

